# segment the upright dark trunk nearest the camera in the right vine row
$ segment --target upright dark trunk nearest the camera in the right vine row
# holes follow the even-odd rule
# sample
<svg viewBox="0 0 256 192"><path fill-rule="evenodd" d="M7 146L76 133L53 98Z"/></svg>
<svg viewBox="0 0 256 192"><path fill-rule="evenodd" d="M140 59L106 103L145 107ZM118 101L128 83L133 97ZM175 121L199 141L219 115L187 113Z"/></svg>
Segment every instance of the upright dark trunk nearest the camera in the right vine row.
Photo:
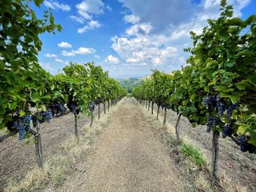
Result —
<svg viewBox="0 0 256 192"><path fill-rule="evenodd" d="M211 150L211 175L212 180L219 181L218 159L219 159L219 131L213 131Z"/></svg>

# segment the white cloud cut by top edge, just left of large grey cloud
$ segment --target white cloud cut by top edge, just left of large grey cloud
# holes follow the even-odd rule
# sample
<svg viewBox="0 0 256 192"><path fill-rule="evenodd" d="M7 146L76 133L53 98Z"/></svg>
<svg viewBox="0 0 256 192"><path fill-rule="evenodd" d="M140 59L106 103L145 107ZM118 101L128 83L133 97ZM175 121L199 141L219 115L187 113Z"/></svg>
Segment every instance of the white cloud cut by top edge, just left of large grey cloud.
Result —
<svg viewBox="0 0 256 192"><path fill-rule="evenodd" d="M78 14L86 20L91 20L91 14L102 14L104 12L104 3L101 0L84 0L76 5Z"/></svg>

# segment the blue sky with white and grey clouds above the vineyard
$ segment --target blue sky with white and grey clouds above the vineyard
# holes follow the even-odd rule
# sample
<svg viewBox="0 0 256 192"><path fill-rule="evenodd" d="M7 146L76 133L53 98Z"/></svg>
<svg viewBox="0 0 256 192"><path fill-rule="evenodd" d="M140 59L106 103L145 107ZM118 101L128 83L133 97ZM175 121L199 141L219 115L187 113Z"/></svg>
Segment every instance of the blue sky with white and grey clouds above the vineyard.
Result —
<svg viewBox="0 0 256 192"><path fill-rule="evenodd" d="M45 0L62 31L41 34L39 64L56 74L70 61L94 61L110 77L144 77L151 69L167 73L186 65L189 31L200 31L219 15L220 0ZM256 14L256 0L228 0L234 15Z"/></svg>

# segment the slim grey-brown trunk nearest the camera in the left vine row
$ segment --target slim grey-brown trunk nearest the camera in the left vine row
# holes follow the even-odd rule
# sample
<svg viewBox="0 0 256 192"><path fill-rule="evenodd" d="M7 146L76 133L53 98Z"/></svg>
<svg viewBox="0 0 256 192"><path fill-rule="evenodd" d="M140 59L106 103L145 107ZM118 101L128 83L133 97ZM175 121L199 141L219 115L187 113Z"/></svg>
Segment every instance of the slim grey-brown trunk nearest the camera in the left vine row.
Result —
<svg viewBox="0 0 256 192"><path fill-rule="evenodd" d="M37 120L37 132L34 135L34 139L35 139L37 165L40 168L42 168L42 166L43 166L43 156L42 156L42 142L41 142L41 135L40 135L40 123L39 123L39 120Z"/></svg>

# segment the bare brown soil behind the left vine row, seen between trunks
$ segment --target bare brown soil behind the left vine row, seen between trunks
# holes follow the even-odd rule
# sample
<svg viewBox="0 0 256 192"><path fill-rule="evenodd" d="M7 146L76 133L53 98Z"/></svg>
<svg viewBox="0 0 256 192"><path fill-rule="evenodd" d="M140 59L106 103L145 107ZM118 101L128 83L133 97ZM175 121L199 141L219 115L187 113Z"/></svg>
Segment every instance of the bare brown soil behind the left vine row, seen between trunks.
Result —
<svg viewBox="0 0 256 192"><path fill-rule="evenodd" d="M102 112L103 104L100 107ZM97 118L97 109L98 107L95 107L95 118ZM79 115L78 134L79 128L83 128L90 120L85 115ZM74 122L74 115L69 113L59 118L53 118L50 123L42 123L40 125L44 158L54 154L59 149L61 142L70 137L70 135L75 134ZM4 133L1 132L2 134ZM32 138L29 145L26 145L24 141L19 141L17 136L0 142L0 191L3 191L11 180L20 180L26 172L37 165Z"/></svg>

